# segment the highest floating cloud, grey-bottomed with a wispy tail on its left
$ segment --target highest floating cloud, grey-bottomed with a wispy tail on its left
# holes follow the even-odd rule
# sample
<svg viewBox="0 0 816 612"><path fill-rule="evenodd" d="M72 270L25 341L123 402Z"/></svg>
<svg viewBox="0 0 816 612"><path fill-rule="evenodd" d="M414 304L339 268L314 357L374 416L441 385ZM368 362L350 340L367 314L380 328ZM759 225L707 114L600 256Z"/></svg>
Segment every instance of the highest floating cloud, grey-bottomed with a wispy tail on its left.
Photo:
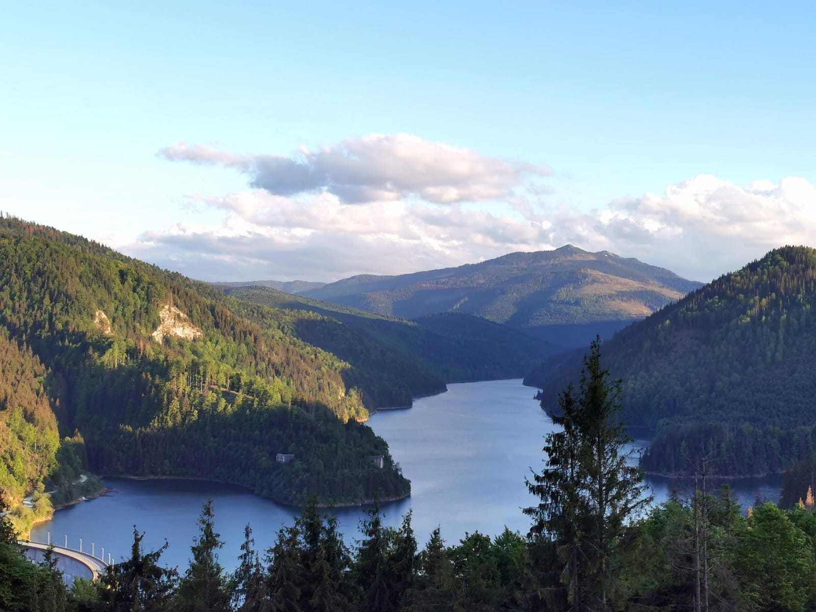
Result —
<svg viewBox="0 0 816 612"><path fill-rule="evenodd" d="M450 204L508 197L529 179L548 175L543 166L487 157L470 149L410 134L349 138L297 157L238 155L185 143L159 151L174 162L235 168L251 186L292 196L326 191L346 203L392 202L419 197Z"/></svg>

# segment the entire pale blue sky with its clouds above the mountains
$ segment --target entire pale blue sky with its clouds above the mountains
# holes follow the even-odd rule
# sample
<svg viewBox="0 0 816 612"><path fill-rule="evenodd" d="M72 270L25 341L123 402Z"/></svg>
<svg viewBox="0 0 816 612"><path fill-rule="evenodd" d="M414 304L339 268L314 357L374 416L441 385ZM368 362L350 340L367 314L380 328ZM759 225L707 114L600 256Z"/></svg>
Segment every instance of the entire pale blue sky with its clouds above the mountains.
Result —
<svg viewBox="0 0 816 612"><path fill-rule="evenodd" d="M16 2L0 210L204 280L816 246L816 9Z"/></svg>

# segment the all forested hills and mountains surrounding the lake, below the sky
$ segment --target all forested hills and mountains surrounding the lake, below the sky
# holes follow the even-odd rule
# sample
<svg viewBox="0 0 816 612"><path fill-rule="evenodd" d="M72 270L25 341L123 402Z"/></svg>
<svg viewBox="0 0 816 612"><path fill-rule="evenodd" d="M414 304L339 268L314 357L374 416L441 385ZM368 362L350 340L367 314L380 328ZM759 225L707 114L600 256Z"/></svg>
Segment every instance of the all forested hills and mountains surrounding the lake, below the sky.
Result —
<svg viewBox="0 0 816 612"><path fill-rule="evenodd" d="M814 453L816 251L784 247L705 286L574 246L397 277L197 282L0 220L0 486L91 494L86 472L207 478L281 503L410 495L365 421L446 384L526 376L543 409L595 335L649 428L645 470L788 470ZM36 505L36 504L35 504Z"/></svg>

